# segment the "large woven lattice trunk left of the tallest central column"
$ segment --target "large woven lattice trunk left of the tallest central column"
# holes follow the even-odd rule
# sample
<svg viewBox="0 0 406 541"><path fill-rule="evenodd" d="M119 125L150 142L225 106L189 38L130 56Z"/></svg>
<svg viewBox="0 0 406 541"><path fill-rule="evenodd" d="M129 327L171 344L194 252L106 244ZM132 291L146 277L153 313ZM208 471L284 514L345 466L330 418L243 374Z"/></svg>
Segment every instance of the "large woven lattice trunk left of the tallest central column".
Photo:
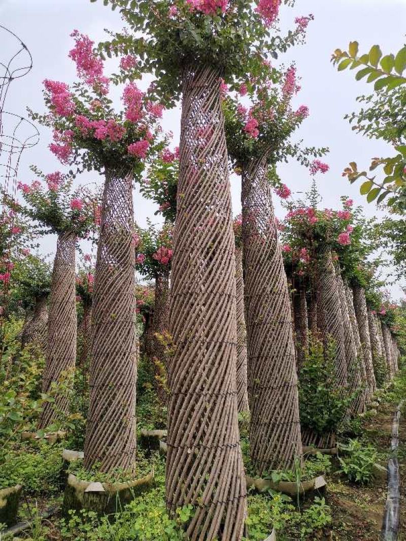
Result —
<svg viewBox="0 0 406 541"><path fill-rule="evenodd" d="M84 466L135 461L135 247L132 175L106 168L93 289Z"/></svg>

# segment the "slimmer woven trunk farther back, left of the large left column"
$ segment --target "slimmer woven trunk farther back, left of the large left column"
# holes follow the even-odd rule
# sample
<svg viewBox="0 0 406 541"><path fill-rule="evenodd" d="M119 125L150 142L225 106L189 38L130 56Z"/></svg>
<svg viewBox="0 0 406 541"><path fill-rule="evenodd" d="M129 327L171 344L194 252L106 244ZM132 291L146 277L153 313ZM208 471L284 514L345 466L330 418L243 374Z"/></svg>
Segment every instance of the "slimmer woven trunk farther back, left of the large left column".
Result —
<svg viewBox="0 0 406 541"><path fill-rule="evenodd" d="M76 289L75 289L76 236L69 231L60 233L57 240L51 294L48 311L48 342L42 392L47 393L52 382L62 372L75 367L76 361ZM49 426L56 413L68 412L67 393L58 393L55 403L45 403L38 428Z"/></svg>

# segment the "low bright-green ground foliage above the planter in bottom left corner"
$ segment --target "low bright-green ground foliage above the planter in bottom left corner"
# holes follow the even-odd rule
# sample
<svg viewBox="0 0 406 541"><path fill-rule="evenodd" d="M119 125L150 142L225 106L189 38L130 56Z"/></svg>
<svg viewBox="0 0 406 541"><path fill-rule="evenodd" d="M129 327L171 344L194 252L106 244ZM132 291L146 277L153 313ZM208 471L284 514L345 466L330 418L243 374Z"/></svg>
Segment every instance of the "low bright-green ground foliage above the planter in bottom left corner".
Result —
<svg viewBox="0 0 406 541"><path fill-rule="evenodd" d="M21 484L26 494L38 496L59 490L62 445L30 441L8 452L0 468L0 487Z"/></svg>

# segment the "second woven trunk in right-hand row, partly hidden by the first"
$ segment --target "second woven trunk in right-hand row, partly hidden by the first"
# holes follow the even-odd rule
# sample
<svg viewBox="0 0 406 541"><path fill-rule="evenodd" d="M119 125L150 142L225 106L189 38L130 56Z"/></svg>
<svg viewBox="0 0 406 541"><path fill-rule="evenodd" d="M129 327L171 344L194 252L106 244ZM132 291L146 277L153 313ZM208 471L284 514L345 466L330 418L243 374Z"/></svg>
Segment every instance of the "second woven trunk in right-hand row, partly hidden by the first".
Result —
<svg viewBox="0 0 406 541"><path fill-rule="evenodd" d="M339 272L339 269L337 270L337 288L343 319L345 359L347 364L347 382L351 392L355 392L362 387L362 371L361 367L359 366L357 344L350 320L350 313L348 309L344 281ZM364 404L362 402L362 398L357 398L357 400L355 400L355 402L352 404L352 412L355 413L358 412L358 410L362 410L364 407Z"/></svg>

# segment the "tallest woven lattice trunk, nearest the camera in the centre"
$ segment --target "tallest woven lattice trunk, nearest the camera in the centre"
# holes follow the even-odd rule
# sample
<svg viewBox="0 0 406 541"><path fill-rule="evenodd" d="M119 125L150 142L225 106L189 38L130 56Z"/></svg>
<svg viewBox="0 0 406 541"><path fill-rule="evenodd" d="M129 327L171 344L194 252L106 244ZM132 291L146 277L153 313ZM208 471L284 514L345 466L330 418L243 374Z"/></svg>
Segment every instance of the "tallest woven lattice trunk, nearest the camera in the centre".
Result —
<svg viewBox="0 0 406 541"><path fill-rule="evenodd" d="M192 504L191 540L243 535L235 259L220 75L184 72L171 279L166 501Z"/></svg>

